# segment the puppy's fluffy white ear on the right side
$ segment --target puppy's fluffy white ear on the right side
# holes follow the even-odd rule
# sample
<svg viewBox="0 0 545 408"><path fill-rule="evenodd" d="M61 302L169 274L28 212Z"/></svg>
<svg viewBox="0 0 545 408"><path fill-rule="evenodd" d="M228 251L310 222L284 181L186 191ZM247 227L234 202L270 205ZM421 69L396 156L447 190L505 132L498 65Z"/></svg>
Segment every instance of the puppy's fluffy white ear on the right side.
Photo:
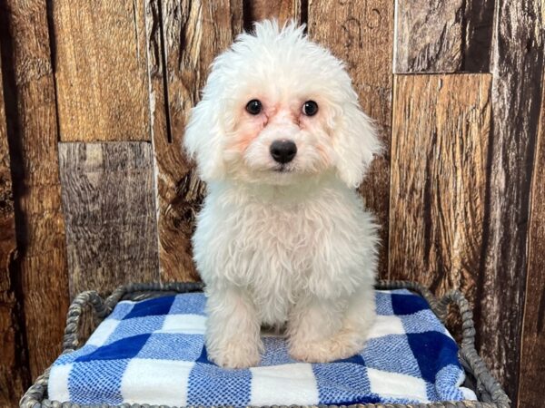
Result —
<svg viewBox="0 0 545 408"><path fill-rule="evenodd" d="M333 141L337 173L348 187L356 188L373 157L382 152L382 145L372 120L357 103L347 103L340 119L341 126Z"/></svg>

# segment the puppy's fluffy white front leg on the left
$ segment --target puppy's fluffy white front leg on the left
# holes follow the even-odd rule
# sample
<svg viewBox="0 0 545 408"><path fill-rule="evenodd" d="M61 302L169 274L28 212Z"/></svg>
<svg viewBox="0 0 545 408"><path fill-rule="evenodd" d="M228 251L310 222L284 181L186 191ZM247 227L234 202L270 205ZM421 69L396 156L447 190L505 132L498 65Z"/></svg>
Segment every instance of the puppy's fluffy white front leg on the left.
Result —
<svg viewBox="0 0 545 408"><path fill-rule="evenodd" d="M215 364L226 368L257 365L263 344L253 301L239 287L208 287L206 348Z"/></svg>

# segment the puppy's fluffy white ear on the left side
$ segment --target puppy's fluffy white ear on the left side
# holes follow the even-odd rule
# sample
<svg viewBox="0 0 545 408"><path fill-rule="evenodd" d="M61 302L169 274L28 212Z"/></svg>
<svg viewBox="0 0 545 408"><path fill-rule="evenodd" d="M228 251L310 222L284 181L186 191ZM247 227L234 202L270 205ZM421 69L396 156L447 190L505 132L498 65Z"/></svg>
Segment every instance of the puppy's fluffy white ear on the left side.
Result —
<svg viewBox="0 0 545 408"><path fill-rule="evenodd" d="M199 176L204 181L223 178L223 128L218 106L213 99L206 98L193 108L183 135L183 147L196 160Z"/></svg>

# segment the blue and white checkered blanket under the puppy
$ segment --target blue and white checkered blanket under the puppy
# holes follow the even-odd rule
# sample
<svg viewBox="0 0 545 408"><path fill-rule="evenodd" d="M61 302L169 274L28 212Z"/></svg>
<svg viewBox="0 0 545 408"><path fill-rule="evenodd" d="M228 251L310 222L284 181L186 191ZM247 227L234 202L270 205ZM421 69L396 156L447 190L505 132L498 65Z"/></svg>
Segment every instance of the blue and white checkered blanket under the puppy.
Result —
<svg viewBox="0 0 545 408"><path fill-rule="evenodd" d="M303 364L281 336L263 336L260 366L228 370L203 346L202 293L120 302L86 345L54 363L49 398L82 404L281 405L475 399L461 387L458 347L421 296L377 291L361 354Z"/></svg>

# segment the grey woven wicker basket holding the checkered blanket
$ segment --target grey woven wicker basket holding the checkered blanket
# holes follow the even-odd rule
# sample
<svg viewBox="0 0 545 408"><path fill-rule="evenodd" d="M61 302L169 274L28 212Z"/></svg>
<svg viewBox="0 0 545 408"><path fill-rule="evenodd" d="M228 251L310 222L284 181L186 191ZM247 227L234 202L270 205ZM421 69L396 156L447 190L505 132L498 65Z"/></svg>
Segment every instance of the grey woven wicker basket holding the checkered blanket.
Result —
<svg viewBox="0 0 545 408"><path fill-rule="evenodd" d="M369 407L369 408L508 408L510 407L510 399L505 394L500 384L490 374L481 357L477 355L475 350L475 328L473 325L473 316L471 307L465 297L458 291L452 291L447 295L436 299L431 292L421 285L413 282L402 281L380 281L376 285L377 289L410 289L423 296L430 304L431 310L444 322L448 306L458 306L462 322L462 340L460 348L460 362L467 374L465 384L472 388L480 402L476 401L458 401L458 402L441 402L441 403L418 403L418 404L381 404L369 403L353 405L354 407ZM111 296L103 299L95 291L87 291L75 297L74 302L68 309L66 319L66 328L64 329L63 354L72 353L78 347L84 344L85 339L79 338L80 329L84 326L84 311L92 309L94 323L98 324L113 310L114 306L120 300L144 300L150 297L164 296L176 293L201 291L203 285L200 283L165 283L165 284L130 284L123 287L118 287L114 290ZM76 403L60 403L47 399L47 380L49 378L49 368L45 373L40 375L35 384L33 384L25 393L20 402L20 407L23 408L169 408L166 406L159 407L158 405L149 404L129 404L122 405L79 405ZM327 405L335 407L335 405ZM325 407L325 405L324 405Z"/></svg>

